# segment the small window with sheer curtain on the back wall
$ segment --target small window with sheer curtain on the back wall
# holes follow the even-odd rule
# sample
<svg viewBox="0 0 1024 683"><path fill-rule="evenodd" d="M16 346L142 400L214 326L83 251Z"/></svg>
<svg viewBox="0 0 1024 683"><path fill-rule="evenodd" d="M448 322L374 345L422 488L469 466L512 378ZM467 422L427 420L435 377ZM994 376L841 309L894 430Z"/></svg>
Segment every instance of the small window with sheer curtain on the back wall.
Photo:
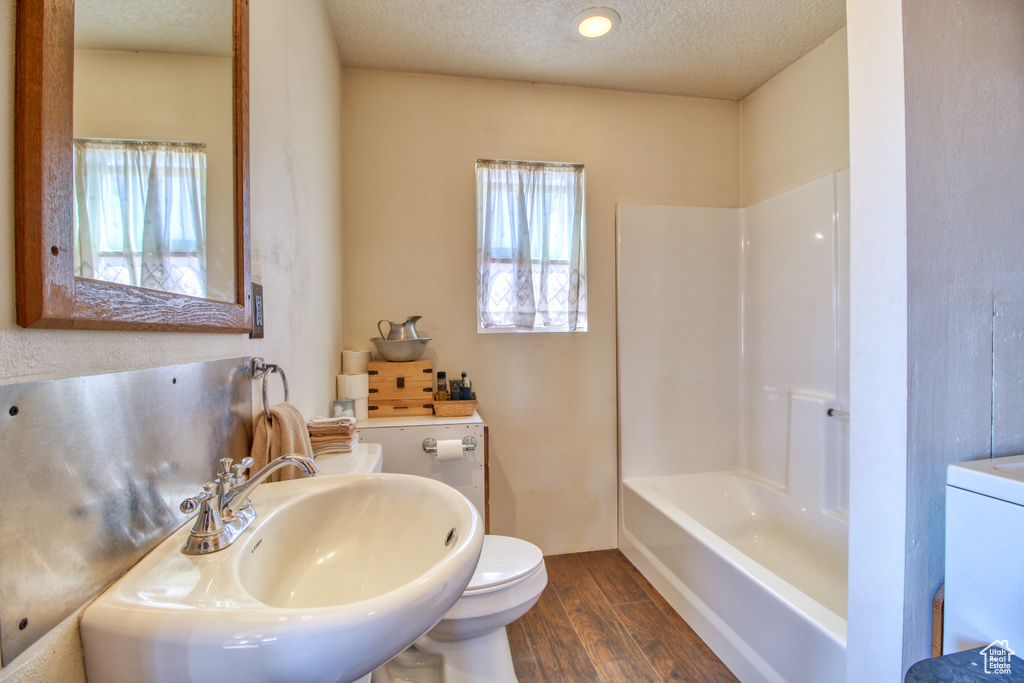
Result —
<svg viewBox="0 0 1024 683"><path fill-rule="evenodd" d="M586 332L582 164L476 162L477 330Z"/></svg>

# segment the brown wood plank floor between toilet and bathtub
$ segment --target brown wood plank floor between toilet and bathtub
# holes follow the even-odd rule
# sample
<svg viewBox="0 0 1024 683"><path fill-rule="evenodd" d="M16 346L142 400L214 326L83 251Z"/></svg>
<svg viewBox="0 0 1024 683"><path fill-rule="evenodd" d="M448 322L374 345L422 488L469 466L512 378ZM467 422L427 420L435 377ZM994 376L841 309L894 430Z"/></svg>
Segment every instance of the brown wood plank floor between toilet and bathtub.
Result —
<svg viewBox="0 0 1024 683"><path fill-rule="evenodd" d="M737 683L617 550L544 560L548 588L508 626L519 683Z"/></svg>

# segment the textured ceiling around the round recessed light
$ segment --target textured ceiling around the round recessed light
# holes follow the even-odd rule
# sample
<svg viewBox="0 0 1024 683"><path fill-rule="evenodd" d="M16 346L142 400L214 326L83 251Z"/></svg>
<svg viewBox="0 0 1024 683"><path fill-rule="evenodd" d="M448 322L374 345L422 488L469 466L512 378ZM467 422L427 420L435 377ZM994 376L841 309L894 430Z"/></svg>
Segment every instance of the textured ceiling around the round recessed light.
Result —
<svg viewBox="0 0 1024 683"><path fill-rule="evenodd" d="M346 67L740 99L846 24L845 0L324 0Z"/></svg>

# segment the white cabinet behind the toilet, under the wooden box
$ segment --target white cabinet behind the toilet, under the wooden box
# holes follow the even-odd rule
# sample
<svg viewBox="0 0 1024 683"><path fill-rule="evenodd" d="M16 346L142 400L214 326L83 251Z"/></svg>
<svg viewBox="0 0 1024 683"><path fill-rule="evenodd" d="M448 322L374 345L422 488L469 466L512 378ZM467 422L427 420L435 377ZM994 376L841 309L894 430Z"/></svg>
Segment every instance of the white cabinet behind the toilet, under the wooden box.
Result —
<svg viewBox="0 0 1024 683"><path fill-rule="evenodd" d="M384 472L443 481L468 498L487 524L486 424L478 413L459 418L371 418L360 420L356 428L360 441L381 444ZM467 436L475 439L476 446L464 450L458 460L438 460L423 450L428 438L461 440Z"/></svg>

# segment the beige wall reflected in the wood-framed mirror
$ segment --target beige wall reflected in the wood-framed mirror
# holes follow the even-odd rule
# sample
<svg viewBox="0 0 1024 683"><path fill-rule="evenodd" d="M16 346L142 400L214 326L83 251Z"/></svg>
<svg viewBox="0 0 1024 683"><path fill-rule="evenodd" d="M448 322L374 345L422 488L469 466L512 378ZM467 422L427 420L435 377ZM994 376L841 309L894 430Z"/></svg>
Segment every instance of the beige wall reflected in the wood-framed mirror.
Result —
<svg viewBox="0 0 1024 683"><path fill-rule="evenodd" d="M75 137L206 144L207 296L236 301L231 58L75 50Z"/></svg>

